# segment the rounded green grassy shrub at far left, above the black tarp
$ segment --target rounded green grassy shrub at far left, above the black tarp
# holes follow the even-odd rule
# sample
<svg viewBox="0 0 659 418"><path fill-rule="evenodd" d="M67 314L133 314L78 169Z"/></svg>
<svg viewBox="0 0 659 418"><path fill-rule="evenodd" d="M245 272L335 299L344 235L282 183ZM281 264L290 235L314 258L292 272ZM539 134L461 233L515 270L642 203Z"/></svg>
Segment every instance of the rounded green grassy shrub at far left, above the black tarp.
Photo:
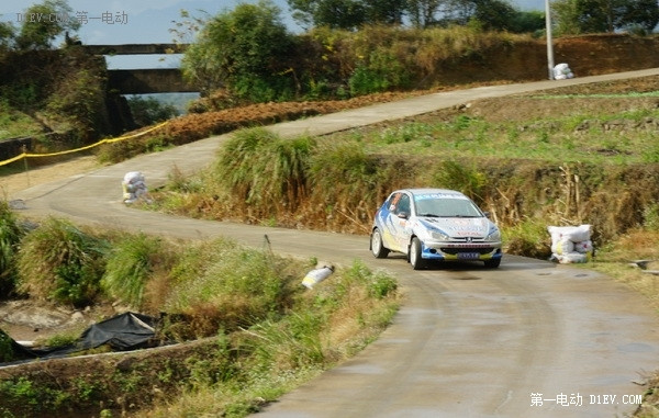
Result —
<svg viewBox="0 0 659 418"><path fill-rule="evenodd" d="M109 244L68 221L48 218L22 241L19 290L42 300L85 306L100 291Z"/></svg>

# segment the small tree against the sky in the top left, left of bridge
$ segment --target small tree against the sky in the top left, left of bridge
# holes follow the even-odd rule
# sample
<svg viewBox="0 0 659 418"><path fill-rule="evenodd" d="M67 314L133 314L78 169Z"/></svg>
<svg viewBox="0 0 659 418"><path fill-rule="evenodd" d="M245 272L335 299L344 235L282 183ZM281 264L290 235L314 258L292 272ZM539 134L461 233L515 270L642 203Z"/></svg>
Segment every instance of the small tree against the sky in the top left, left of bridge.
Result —
<svg viewBox="0 0 659 418"><path fill-rule="evenodd" d="M22 25L16 37L19 49L48 49L57 36L80 27L66 0L45 0L30 7L21 16Z"/></svg>

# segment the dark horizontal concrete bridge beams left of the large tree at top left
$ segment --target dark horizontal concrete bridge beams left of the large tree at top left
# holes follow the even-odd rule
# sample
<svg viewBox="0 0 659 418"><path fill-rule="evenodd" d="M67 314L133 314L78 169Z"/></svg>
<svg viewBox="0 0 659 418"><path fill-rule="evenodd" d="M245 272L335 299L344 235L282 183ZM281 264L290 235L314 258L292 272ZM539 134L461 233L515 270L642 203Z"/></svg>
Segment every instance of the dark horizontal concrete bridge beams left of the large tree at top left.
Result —
<svg viewBox="0 0 659 418"><path fill-rule="evenodd" d="M81 45L91 55L182 54L187 44ZM183 80L178 68L108 70L108 89L120 94L198 92L199 88Z"/></svg>

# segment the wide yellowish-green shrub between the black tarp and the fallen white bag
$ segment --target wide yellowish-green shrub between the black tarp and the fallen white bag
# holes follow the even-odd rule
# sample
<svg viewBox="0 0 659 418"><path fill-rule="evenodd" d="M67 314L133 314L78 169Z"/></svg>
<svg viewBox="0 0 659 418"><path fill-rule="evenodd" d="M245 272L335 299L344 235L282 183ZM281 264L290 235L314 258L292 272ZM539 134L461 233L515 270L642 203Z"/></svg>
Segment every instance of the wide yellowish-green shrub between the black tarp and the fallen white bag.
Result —
<svg viewBox="0 0 659 418"><path fill-rule="evenodd" d="M185 314L197 335L233 331L280 315L291 302L300 272L257 249L219 239L188 249L172 268L171 296L164 308Z"/></svg>

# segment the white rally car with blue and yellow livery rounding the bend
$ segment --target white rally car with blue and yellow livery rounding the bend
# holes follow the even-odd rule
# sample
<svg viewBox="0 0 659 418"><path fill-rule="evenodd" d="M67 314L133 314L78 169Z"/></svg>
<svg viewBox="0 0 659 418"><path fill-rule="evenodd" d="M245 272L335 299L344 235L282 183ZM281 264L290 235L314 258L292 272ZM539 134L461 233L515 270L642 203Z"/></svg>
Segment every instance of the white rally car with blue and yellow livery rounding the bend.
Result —
<svg viewBox="0 0 659 418"><path fill-rule="evenodd" d="M370 250L407 255L414 270L429 260L481 260L496 268L501 233L469 197L446 189L396 190L376 213Z"/></svg>

